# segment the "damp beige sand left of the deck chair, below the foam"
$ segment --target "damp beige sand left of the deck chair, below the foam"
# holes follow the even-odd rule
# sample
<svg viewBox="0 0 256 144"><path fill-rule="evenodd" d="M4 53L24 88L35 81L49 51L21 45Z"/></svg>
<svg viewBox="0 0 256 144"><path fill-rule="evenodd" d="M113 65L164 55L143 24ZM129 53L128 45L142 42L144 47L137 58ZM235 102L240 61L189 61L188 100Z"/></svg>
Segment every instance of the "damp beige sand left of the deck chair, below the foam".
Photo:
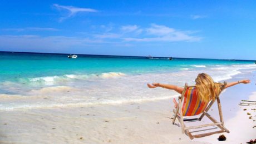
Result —
<svg viewBox="0 0 256 144"><path fill-rule="evenodd" d="M162 100L1 112L1 143L198 143L171 125L171 107Z"/></svg>

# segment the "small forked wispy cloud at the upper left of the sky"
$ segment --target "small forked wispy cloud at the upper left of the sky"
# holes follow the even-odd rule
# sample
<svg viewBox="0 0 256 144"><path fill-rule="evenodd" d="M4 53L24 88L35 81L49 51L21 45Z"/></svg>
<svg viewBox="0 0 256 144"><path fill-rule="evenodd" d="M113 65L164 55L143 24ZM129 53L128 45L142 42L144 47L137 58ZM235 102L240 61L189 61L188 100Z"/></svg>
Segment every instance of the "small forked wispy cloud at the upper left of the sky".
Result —
<svg viewBox="0 0 256 144"><path fill-rule="evenodd" d="M75 16L76 13L78 12L99 12L96 9L91 9L91 8L78 8L78 7L73 7L73 6L60 6L58 4L53 4L57 9L66 9L68 10L69 14L67 17ZM62 17L60 21L67 17Z"/></svg>

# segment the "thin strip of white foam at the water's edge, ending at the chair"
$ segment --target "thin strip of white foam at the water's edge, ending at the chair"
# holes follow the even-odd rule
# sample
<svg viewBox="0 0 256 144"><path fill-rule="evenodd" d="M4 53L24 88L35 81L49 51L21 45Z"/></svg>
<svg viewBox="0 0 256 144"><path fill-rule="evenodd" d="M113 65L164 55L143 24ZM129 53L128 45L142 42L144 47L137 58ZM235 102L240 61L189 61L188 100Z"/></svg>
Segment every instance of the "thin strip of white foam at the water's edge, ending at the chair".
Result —
<svg viewBox="0 0 256 144"><path fill-rule="evenodd" d="M41 90L40 90L41 91ZM60 93L61 91L58 91ZM90 105L113 105L126 102L142 102L142 101L155 101L166 100L172 97L177 97L178 94L173 96L162 97L141 97L141 98L122 98L119 100L105 100L99 98L92 99L89 97L81 96L19 96L19 95L0 95L0 110L21 110L21 109L33 109L33 108L53 108L53 107L81 107ZM54 100L53 100L54 99ZM4 101L6 100L6 101ZM19 102L17 102L19 101ZM29 102L28 102L29 101ZM41 102L38 102L41 101Z"/></svg>

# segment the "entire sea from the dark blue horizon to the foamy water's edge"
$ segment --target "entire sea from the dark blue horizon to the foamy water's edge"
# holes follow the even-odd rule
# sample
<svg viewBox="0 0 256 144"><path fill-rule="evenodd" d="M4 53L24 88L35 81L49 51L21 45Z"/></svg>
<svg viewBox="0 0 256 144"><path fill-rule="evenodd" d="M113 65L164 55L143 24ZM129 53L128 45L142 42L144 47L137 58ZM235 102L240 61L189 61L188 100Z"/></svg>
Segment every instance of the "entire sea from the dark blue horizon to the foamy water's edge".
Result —
<svg viewBox="0 0 256 144"><path fill-rule="evenodd" d="M224 82L256 70L255 61L77 54L0 52L0 110L116 105L164 100L175 91L147 83L183 87L199 73ZM247 71L243 71L247 69Z"/></svg>

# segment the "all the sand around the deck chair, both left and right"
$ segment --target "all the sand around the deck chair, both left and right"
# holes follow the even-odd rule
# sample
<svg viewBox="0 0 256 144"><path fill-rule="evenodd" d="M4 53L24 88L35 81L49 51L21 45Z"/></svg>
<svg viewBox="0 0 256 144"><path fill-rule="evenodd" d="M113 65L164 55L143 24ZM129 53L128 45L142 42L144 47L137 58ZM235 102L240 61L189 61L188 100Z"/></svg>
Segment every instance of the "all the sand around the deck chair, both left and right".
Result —
<svg viewBox="0 0 256 144"><path fill-rule="evenodd" d="M244 71L246 71L244 69ZM242 111L238 106L241 93L247 100L255 91L253 73L238 74L226 81L241 80L251 77L253 85L239 85L221 93L220 101L224 115L225 127L230 133L225 143L234 143L243 135L233 130L233 122L237 116L249 111ZM243 78L243 79L245 79ZM255 77L256 78L256 77ZM256 92L255 92L256 93ZM232 98L235 97L235 98ZM231 99L230 99L231 98ZM251 97L250 97L251 98ZM168 100L127 102L117 105L96 105L82 107L66 107L52 109L35 109L23 111L1 111L0 142L1 143L218 143L220 134L190 140L181 133L179 122L171 124L170 116L174 115L174 103ZM231 101L230 101L231 100ZM232 109L235 108L235 109ZM243 107L242 107L243 108ZM210 114L219 121L218 108L214 103ZM229 109L231 111L229 111ZM249 108L248 108L249 109ZM254 113L251 112L254 116ZM255 114L256 115L256 114ZM200 116L200 115L199 115ZM196 116L196 117L199 117ZM244 118L248 118L247 115ZM207 123L207 118L202 122ZM6 125L4 125L6 123ZM248 124L248 123L246 123ZM196 125L196 124L193 124ZM200 125L202 125L200 123ZM204 125L204 124L203 124ZM256 125L256 122L255 122ZM253 133L252 126L248 130ZM40 136L38 136L40 135ZM81 139L82 137L82 139ZM180 140L181 139L181 140ZM253 139L250 138L250 139ZM250 140L249 139L249 140ZM242 139L241 139L242 140ZM242 143L249 140L243 139ZM222 142L223 143L223 142Z"/></svg>

